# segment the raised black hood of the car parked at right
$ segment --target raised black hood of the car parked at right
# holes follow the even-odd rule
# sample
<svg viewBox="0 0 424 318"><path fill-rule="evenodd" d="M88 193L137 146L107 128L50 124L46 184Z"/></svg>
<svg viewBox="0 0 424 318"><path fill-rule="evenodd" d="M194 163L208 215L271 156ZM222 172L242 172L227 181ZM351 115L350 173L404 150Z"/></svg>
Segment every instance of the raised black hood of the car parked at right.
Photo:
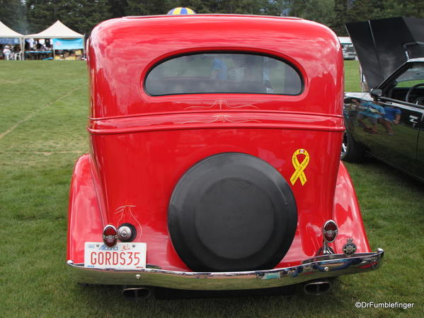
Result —
<svg viewBox="0 0 424 318"><path fill-rule="evenodd" d="M346 23L369 88L408 59L424 57L424 19L386 18Z"/></svg>

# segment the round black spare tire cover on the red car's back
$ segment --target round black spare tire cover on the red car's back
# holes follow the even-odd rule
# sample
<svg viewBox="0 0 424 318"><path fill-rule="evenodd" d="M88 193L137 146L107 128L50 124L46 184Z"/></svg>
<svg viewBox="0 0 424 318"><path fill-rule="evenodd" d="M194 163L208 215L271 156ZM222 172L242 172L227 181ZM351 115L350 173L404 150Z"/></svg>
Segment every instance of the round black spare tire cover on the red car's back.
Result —
<svg viewBox="0 0 424 318"><path fill-rule="evenodd" d="M296 201L284 177L246 153L220 153L193 165L168 208L173 247L193 271L272 269L296 227Z"/></svg>

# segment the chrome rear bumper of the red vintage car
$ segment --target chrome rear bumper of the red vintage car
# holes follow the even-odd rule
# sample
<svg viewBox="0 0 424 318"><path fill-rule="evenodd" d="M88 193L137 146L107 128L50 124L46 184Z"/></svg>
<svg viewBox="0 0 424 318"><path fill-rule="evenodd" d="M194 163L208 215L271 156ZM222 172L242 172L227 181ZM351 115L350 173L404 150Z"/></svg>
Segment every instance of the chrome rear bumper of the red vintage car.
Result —
<svg viewBox="0 0 424 318"><path fill-rule="evenodd" d="M284 269L236 272L186 272L162 269L137 271L115 269L92 269L84 264L67 261L79 283L106 285L157 286L187 290L241 290L272 288L293 285L318 278L364 273L377 269L382 264L383 249L374 253L358 253L347 257L331 254L306 259L302 265Z"/></svg>

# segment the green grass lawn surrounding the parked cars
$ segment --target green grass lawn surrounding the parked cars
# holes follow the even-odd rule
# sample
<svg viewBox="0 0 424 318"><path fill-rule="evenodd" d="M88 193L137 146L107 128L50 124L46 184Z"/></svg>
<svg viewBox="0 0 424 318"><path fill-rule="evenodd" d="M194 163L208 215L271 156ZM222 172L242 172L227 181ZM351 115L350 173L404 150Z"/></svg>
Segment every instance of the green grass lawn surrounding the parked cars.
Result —
<svg viewBox="0 0 424 318"><path fill-rule="evenodd" d="M346 90L359 90L357 61L345 65ZM77 285L65 265L67 200L74 162L88 151L86 64L0 61L0 92L0 317L423 316L424 187L373 161L348 168L384 265L339 278L328 295L132 302L119 288Z"/></svg>

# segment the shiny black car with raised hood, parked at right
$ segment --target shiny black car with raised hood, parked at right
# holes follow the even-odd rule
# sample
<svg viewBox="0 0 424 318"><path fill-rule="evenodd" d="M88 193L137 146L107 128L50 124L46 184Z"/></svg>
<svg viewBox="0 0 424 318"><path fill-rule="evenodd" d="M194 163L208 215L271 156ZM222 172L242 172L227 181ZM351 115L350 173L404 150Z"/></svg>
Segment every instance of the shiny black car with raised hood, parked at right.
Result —
<svg viewBox="0 0 424 318"><path fill-rule="evenodd" d="M367 153L424 182L424 20L346 26L370 93L345 94L342 159Z"/></svg>

